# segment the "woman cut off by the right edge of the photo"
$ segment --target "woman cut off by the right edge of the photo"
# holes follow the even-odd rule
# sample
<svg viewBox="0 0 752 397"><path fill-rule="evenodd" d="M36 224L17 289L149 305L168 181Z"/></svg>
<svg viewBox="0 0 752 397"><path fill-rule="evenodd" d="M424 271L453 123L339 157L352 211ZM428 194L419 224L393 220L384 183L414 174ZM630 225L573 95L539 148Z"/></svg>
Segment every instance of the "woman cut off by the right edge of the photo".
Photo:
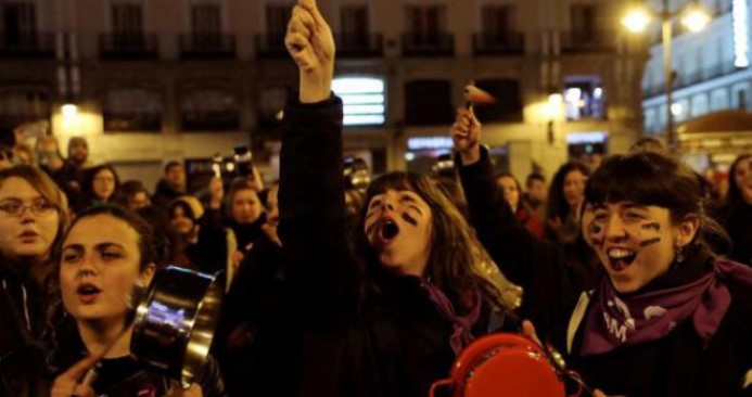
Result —
<svg viewBox="0 0 752 397"><path fill-rule="evenodd" d="M729 258L752 266L752 154L741 154L728 170L728 194L715 218L731 238Z"/></svg>

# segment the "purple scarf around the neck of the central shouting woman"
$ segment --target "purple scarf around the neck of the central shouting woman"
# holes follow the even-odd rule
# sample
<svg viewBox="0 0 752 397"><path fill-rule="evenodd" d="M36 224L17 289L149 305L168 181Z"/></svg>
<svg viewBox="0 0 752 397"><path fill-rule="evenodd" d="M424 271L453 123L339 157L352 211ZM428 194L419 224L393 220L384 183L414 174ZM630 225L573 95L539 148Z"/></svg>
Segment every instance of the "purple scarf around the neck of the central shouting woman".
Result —
<svg viewBox="0 0 752 397"><path fill-rule="evenodd" d="M438 286L428 280L421 280L421 285L429 293L429 298L436 306L442 317L451 322L453 332L449 337L449 344L451 345L451 349L455 350L455 354L459 355L464 346L470 344L474 338L471 329L481 317L481 296L479 295L476 297L475 304L472 309L470 309L470 312L466 316L459 316L455 313L455 307Z"/></svg>

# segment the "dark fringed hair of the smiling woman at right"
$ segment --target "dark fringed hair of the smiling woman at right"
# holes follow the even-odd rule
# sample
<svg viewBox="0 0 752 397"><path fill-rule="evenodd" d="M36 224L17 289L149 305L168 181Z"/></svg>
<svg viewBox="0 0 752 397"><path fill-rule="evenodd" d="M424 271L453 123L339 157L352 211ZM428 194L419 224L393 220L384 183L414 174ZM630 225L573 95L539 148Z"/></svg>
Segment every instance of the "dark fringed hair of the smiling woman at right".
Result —
<svg viewBox="0 0 752 397"><path fill-rule="evenodd" d="M585 203L628 201L668 209L673 222L700 219L694 242L712 242L715 252L730 245L728 234L705 215L703 192L697 175L673 156L638 151L607 157L585 185Z"/></svg>

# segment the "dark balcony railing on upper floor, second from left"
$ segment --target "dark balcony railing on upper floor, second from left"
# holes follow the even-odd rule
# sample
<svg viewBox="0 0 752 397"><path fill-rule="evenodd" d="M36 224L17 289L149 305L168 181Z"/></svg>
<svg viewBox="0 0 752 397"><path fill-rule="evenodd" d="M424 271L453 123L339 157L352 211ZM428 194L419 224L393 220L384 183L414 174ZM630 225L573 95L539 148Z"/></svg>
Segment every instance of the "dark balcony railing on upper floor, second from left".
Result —
<svg viewBox="0 0 752 397"><path fill-rule="evenodd" d="M103 60L154 60L157 43L155 34L101 34L99 54Z"/></svg>

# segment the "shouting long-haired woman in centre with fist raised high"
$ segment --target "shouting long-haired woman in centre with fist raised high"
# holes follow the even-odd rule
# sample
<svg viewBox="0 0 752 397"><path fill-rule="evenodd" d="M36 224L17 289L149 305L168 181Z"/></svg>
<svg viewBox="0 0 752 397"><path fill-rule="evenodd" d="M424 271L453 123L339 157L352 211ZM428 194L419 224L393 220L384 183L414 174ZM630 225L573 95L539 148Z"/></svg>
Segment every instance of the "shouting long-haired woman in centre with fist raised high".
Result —
<svg viewBox="0 0 752 397"><path fill-rule="evenodd" d="M285 43L301 91L284 110L278 231L295 316L276 321L297 343L271 343L299 359L262 369L259 383L273 395L426 396L502 320L501 276L449 198L407 172L371 182L349 249L334 43L314 0L294 8Z"/></svg>

